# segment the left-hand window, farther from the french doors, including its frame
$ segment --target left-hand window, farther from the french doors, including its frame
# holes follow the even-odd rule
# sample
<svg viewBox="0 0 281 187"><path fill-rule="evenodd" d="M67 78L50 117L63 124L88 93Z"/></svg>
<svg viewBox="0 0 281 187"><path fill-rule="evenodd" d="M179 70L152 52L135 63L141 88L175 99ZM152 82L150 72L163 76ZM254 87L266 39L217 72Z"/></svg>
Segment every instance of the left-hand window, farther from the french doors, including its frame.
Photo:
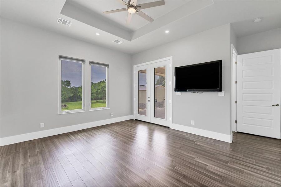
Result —
<svg viewBox="0 0 281 187"><path fill-rule="evenodd" d="M59 56L59 113L85 111L85 60Z"/></svg>

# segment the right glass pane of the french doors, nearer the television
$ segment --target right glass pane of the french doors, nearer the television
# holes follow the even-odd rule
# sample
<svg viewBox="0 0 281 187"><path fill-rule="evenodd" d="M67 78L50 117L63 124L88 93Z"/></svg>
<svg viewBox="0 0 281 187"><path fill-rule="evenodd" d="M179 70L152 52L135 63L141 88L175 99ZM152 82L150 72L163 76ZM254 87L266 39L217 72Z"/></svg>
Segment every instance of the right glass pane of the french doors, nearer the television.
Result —
<svg viewBox="0 0 281 187"><path fill-rule="evenodd" d="M154 117L166 118L166 67L154 68Z"/></svg>

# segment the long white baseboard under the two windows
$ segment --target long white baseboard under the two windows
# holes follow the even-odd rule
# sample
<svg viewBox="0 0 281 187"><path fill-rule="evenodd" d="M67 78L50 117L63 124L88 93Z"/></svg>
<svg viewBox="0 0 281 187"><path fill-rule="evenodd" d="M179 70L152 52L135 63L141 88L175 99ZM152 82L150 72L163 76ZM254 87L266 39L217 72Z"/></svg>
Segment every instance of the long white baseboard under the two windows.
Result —
<svg viewBox="0 0 281 187"><path fill-rule="evenodd" d="M49 129L49 130L45 130L45 131L37 131L37 132L20 134L20 135L15 135L15 136L10 136L10 137L4 137L4 138L0 138L0 146L5 146L5 145L18 143L18 142L22 142L22 141L34 140L37 138L53 136L53 135L62 134L62 133L66 133L66 132L78 131L78 130L82 130L82 129L86 129L86 128L121 122L121 121L129 120L129 119L134 119L134 116L129 115L129 116L122 116L122 117L115 117L115 118L110 118L110 119L105 119L105 120L100 120L100 121L95 121L95 122L88 122L88 123L82 123L82 124L78 124L78 125L71 125L71 126L67 126L67 127Z"/></svg>

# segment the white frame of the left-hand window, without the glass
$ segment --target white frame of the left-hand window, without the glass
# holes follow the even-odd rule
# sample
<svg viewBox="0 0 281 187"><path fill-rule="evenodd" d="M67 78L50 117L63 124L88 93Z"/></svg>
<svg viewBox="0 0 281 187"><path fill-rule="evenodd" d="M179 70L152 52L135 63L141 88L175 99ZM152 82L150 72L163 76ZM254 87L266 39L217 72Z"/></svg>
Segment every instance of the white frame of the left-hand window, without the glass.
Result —
<svg viewBox="0 0 281 187"><path fill-rule="evenodd" d="M61 60L68 60L68 61L74 61L79 62L82 64L82 108L81 109L75 109L75 110L61 110ZM59 81L58 81L58 100L59 100L59 106L58 106L58 114L67 114L67 113L77 113L77 112L86 112L85 109L85 60L78 59L78 58L72 58L67 56L59 55Z"/></svg>

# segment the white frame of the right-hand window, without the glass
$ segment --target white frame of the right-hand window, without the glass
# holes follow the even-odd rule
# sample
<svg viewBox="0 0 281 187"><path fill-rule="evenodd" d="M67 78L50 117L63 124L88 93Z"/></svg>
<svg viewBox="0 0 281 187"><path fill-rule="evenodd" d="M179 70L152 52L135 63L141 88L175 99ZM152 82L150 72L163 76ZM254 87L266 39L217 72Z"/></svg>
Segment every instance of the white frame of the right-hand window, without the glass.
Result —
<svg viewBox="0 0 281 187"><path fill-rule="evenodd" d="M98 107L98 108L92 108L92 65L102 66L106 68L106 107ZM90 61L90 110L89 111L95 111L95 110L104 110L109 109L109 64L103 64L99 62Z"/></svg>

